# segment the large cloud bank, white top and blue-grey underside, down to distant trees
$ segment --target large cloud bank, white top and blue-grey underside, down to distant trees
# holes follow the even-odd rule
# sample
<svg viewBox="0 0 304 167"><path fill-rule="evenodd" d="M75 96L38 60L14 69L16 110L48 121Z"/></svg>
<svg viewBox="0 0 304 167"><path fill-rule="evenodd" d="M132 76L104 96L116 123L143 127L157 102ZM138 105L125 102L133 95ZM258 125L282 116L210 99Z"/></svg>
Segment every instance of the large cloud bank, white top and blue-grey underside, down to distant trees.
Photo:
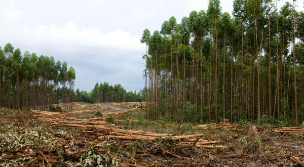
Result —
<svg viewBox="0 0 304 167"><path fill-rule="evenodd" d="M127 90L143 88L142 55L145 46L140 38L123 30L102 32L98 28L78 28L67 21L62 26L54 23L37 27L5 29L2 45L12 43L23 52L53 56L66 61L76 71L75 88L90 91L96 82L122 84ZM133 76L136 76L134 79Z"/></svg>

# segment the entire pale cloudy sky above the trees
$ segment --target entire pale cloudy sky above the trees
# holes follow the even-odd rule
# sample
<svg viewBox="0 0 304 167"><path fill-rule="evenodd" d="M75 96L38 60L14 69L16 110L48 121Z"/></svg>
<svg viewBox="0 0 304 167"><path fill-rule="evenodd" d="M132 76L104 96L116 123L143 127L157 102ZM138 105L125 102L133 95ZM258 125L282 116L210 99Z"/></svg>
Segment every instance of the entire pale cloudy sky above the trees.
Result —
<svg viewBox="0 0 304 167"><path fill-rule="evenodd" d="M287 0L279 1L279 7ZM288 0L291 2L292 0ZM75 88L91 91L96 82L144 87L142 31L160 30L171 16L180 22L191 11L207 10L208 0L0 0L0 46L11 43L37 55L66 61L76 71ZM297 10L303 10L298 0ZM232 13L233 0L221 0Z"/></svg>

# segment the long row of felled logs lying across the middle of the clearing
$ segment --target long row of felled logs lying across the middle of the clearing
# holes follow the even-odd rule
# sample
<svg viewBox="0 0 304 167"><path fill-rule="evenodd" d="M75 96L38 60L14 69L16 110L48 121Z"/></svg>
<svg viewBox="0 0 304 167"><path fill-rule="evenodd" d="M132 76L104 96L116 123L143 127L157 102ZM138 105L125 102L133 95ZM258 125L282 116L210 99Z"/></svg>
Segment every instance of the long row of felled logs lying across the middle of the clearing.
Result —
<svg viewBox="0 0 304 167"><path fill-rule="evenodd" d="M215 145L218 144L219 141L209 141L203 139L203 134L175 136L171 134L157 134L153 132L123 130L119 129L119 127L113 123L105 122L97 118L77 119L68 117L64 113L39 110L31 110L31 112L35 118L52 124L53 126L82 128L83 132L89 134L91 138L97 138L100 140L113 139L132 141L171 138L172 140L178 140L180 144L195 145L199 148L226 148L226 146L223 145Z"/></svg>

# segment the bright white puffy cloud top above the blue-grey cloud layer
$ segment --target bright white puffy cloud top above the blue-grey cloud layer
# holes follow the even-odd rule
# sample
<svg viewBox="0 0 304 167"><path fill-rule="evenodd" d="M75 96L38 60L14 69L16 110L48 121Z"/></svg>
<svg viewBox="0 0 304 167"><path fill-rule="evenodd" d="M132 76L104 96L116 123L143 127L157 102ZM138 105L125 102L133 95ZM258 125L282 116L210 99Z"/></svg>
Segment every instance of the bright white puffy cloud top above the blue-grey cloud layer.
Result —
<svg viewBox="0 0 304 167"><path fill-rule="evenodd" d="M56 45L65 49L100 47L120 50L144 50L144 46L140 44L139 37L131 36L130 33L123 30L101 32L100 29L96 28L79 29L71 21L66 22L61 27L56 24L41 25L33 29L26 40L32 45Z"/></svg>

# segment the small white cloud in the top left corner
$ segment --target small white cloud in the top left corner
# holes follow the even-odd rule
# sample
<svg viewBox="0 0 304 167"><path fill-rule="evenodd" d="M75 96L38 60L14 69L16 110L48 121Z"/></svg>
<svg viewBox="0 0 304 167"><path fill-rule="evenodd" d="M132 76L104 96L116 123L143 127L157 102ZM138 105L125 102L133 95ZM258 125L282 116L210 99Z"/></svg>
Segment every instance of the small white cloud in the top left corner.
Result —
<svg viewBox="0 0 304 167"><path fill-rule="evenodd" d="M5 1L0 6L0 22L18 22L22 19L23 13L15 8L13 1Z"/></svg>

